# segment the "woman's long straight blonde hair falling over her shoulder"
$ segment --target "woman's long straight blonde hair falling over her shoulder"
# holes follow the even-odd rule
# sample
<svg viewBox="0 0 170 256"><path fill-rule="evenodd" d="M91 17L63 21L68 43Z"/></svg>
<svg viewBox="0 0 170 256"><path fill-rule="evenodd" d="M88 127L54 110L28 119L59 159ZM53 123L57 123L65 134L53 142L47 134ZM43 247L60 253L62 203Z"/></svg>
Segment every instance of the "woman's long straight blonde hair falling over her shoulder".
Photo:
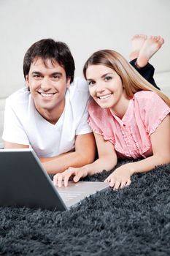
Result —
<svg viewBox="0 0 170 256"><path fill-rule="evenodd" d="M128 61L117 53L115 50L98 50L93 53L90 58L85 62L83 74L86 77L86 70L90 65L104 65L109 67L115 72L123 81L125 93L128 99L131 99L137 91L154 91L158 94L164 102L170 107L170 99L158 89L155 89L147 80L142 78L141 75L128 63Z"/></svg>

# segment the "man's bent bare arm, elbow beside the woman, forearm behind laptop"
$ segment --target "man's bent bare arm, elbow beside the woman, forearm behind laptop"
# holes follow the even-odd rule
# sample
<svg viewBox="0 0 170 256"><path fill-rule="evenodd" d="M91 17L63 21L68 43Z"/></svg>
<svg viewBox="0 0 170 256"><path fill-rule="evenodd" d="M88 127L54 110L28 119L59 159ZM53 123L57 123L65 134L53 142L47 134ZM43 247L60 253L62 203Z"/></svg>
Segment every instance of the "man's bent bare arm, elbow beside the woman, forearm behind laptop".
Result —
<svg viewBox="0 0 170 256"><path fill-rule="evenodd" d="M96 143L93 133L77 135L75 151L61 154L58 157L41 158L42 165L47 173L61 173L72 167L81 167L94 161L96 156Z"/></svg>

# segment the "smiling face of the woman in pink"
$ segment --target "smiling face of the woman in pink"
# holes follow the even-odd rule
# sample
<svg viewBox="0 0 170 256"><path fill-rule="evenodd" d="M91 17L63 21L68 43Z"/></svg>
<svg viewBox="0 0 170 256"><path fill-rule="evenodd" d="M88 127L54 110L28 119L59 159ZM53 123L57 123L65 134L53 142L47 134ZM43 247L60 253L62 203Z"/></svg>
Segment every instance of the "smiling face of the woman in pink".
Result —
<svg viewBox="0 0 170 256"><path fill-rule="evenodd" d="M101 108L114 110L125 99L123 83L117 73L104 65L90 65L86 78L91 97Z"/></svg>

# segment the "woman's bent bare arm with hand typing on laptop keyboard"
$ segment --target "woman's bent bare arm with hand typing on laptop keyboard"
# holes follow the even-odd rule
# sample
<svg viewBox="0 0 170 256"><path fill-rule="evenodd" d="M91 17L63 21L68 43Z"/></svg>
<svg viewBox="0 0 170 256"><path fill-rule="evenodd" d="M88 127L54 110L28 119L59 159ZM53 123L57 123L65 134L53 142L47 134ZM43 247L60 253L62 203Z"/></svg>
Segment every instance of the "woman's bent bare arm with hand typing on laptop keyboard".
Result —
<svg viewBox="0 0 170 256"><path fill-rule="evenodd" d="M65 172L56 174L53 179L55 185L61 187L63 181L66 187L71 176L74 177L73 181L77 182L80 178L100 173L102 170L112 170L117 165L117 155L112 143L104 140L102 135L95 133L94 136L98 148L98 159L92 164L80 168L69 167Z"/></svg>

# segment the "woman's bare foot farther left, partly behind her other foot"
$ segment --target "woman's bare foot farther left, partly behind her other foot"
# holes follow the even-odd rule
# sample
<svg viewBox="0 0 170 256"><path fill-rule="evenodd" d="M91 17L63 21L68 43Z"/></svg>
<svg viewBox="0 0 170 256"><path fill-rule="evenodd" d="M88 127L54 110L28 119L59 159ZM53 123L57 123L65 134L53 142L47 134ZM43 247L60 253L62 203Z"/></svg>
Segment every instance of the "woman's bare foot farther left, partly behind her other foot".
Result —
<svg viewBox="0 0 170 256"><path fill-rule="evenodd" d="M130 54L130 60L137 59L139 52L144 44L144 41L147 39L145 34L136 34L131 39L132 50Z"/></svg>

